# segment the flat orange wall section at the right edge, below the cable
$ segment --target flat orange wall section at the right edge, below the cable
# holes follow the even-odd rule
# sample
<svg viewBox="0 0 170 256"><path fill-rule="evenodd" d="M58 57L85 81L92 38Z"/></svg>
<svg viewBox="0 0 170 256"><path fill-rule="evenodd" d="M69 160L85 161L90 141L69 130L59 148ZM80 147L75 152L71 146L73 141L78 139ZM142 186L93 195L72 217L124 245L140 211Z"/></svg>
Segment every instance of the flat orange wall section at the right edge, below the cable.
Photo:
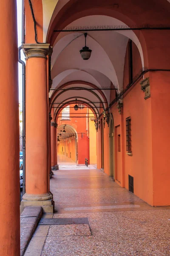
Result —
<svg viewBox="0 0 170 256"><path fill-rule="evenodd" d="M170 205L170 74L150 73L153 205Z"/></svg>

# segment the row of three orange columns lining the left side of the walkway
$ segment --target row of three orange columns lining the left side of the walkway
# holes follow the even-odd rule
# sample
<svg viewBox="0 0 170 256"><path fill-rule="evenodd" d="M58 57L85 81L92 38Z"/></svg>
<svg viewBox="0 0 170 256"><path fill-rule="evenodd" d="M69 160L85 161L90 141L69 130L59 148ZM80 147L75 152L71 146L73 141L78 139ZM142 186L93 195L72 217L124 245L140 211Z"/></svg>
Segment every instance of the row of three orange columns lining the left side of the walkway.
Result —
<svg viewBox="0 0 170 256"><path fill-rule="evenodd" d="M26 56L26 194L20 205L19 99L17 14L15 1L4 1L0 9L0 247L3 256L20 255L20 209L41 206L53 212L49 188L51 159L56 161L56 125L49 124L48 55L49 44L24 44ZM4 48L6 44L6 50ZM50 152L50 130L52 136ZM50 154L51 153L51 154ZM49 157L51 156L51 158ZM8 175L7 175L8 174Z"/></svg>

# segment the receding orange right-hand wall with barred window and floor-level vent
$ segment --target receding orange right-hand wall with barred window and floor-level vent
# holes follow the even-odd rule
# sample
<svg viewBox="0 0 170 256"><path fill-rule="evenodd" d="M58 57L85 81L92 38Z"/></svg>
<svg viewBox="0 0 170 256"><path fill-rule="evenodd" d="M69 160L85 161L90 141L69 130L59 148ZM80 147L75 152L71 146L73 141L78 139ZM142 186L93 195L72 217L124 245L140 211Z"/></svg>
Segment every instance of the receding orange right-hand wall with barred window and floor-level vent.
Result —
<svg viewBox="0 0 170 256"><path fill-rule="evenodd" d="M141 69L141 59L137 47L133 44L133 76ZM124 87L129 83L128 50L125 56ZM152 175L152 134L151 134L151 103L144 99L144 92L139 84L140 79L123 98L122 114L119 114L117 103L110 112L114 119L115 139L115 181L128 189L128 175L134 178L134 193L153 204L153 175ZM113 100L113 93L111 101ZM126 153L126 118L131 117L132 156ZM100 142L100 133L97 134L97 148ZM108 125L104 128L104 172L109 175L109 137ZM121 138L121 147L118 151L118 135ZM101 168L101 149L97 150L98 168ZM98 153L99 152L99 153Z"/></svg>

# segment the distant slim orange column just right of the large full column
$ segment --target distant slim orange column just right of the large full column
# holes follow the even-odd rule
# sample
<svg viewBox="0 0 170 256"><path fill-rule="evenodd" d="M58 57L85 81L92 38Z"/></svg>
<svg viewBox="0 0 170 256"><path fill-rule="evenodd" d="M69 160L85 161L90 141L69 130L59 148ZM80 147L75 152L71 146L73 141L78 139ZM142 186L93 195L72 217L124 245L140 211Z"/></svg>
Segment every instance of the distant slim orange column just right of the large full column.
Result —
<svg viewBox="0 0 170 256"><path fill-rule="evenodd" d="M57 156L56 156L56 122L51 122L51 168L57 170Z"/></svg>

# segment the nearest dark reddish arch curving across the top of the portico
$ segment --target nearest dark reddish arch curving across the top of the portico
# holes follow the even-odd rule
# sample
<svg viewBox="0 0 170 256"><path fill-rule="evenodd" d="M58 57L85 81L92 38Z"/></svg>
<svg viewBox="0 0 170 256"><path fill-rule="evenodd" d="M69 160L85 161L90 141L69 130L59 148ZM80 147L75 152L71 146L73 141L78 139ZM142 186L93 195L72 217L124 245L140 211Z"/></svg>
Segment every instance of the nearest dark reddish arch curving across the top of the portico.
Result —
<svg viewBox="0 0 170 256"><path fill-rule="evenodd" d="M76 8L75 8L76 4ZM148 4L148 3L147 3ZM87 17L91 15L105 15L108 17L116 18L117 20L120 20L124 24L128 25L131 24L132 26L138 26L139 24L143 24L143 15L142 13L145 12L144 4L143 3L136 3L136 5L133 6L133 8L136 8L136 12L139 13L139 15L134 15L130 11L131 9L131 3L129 1L129 4L127 3L121 3L121 9L114 8L114 5L108 5L109 7L106 7L105 1L100 1L96 5L96 3L87 0L85 3L74 3L74 0L70 0L68 3L66 3L59 11L54 10L54 15L51 18L51 22L49 25L48 33L47 33L47 42L51 43L51 45L54 45L55 40L57 36L59 35L59 32L54 32L54 30L65 28L75 20ZM118 5L119 6L119 5ZM129 7L129 11L127 11ZM154 9L158 9L159 6L154 6ZM159 7L160 8L160 7ZM56 10L58 7L56 6ZM162 15L159 12L159 19L156 17L154 9L150 9L150 12L152 15L147 15L146 21L148 23L156 24L158 23L158 20L162 20ZM141 11L139 11L141 10ZM68 16L68 13L71 13L71 15ZM67 18L66 18L67 17ZM164 19L165 20L165 19ZM144 62L145 66L148 66L148 60L147 60L147 47L143 32L134 31L137 38L140 41L140 44L142 45L143 55L144 55Z"/></svg>

